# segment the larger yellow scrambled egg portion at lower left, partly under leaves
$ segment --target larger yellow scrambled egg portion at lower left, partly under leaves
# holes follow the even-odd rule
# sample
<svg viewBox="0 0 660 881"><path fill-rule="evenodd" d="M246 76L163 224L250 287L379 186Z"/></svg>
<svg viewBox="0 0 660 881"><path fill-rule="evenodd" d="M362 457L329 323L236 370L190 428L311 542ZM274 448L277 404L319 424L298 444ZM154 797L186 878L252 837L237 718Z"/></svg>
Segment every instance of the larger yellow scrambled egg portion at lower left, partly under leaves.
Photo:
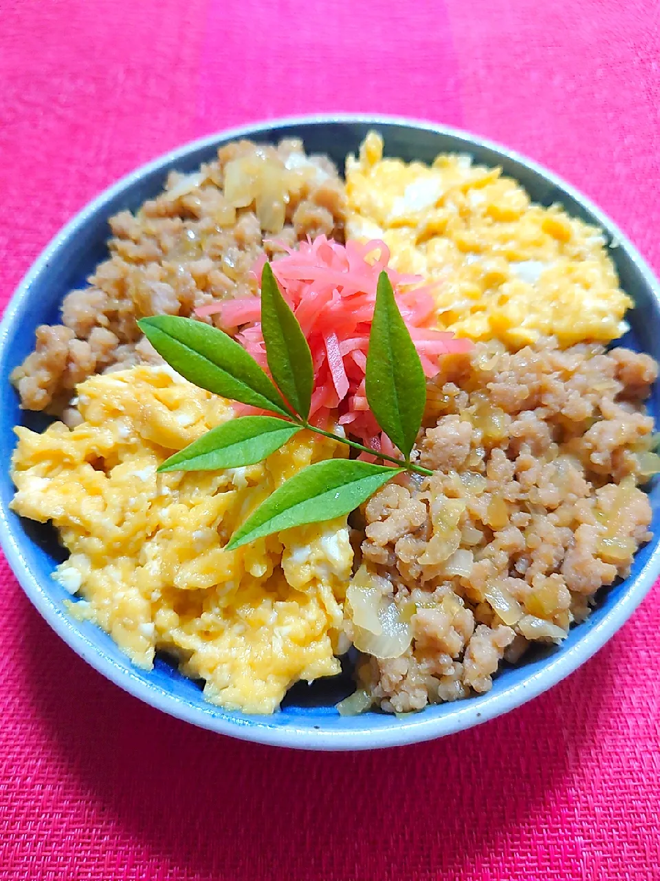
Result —
<svg viewBox="0 0 660 881"><path fill-rule="evenodd" d="M177 655L209 700L248 713L273 712L298 679L338 673L346 517L224 545L285 479L347 448L300 433L246 468L158 475L231 405L166 367L93 376L78 396L82 425L16 429L11 472L11 507L52 521L70 551L55 578L84 597L72 613L143 668L158 648Z"/></svg>

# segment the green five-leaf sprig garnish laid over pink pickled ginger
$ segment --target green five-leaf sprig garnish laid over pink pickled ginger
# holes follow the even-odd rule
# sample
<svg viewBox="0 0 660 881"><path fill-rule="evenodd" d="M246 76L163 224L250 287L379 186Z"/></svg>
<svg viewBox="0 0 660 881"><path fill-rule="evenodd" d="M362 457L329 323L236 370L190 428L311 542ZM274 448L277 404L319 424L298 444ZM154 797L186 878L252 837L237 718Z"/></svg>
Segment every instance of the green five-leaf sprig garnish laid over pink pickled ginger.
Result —
<svg viewBox="0 0 660 881"><path fill-rule="evenodd" d="M253 511L231 537L228 550L280 529L348 514L404 470L433 473L410 459L422 425L426 380L385 271L378 278L365 389L378 425L401 450L403 459L310 425L312 353L269 263L261 275L261 329L272 379L240 344L209 324L177 315L154 315L138 324L158 354L194 385L276 414L244 416L216 426L170 456L159 471L252 465L303 429L398 466L356 459L328 459L310 465L285 481Z"/></svg>

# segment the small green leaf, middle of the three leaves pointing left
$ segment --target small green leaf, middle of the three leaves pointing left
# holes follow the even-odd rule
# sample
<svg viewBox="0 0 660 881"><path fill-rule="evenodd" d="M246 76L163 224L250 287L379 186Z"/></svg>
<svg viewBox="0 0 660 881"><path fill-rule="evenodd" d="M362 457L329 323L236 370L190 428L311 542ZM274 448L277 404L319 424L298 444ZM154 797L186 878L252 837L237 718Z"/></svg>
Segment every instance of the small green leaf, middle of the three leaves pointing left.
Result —
<svg viewBox="0 0 660 881"><path fill-rule="evenodd" d="M302 431L275 416L243 416L221 426L171 455L158 471L216 471L253 465L275 453Z"/></svg>

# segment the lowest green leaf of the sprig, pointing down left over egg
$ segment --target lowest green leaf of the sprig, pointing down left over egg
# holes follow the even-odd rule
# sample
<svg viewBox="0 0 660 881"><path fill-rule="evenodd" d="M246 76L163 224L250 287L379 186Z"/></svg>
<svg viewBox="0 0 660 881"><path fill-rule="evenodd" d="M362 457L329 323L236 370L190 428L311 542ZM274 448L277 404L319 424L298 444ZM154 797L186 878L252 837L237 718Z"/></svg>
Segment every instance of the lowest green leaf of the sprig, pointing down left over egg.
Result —
<svg viewBox="0 0 660 881"><path fill-rule="evenodd" d="M231 536L227 550L280 529L348 514L402 470L356 459L327 459L310 465L260 504Z"/></svg>

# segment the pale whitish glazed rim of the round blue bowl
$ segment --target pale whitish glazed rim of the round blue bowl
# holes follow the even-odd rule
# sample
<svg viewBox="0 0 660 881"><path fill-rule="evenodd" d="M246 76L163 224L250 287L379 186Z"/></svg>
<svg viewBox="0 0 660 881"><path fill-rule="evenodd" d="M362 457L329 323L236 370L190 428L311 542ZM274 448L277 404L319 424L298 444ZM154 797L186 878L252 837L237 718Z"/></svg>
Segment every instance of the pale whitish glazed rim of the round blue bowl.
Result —
<svg viewBox="0 0 660 881"><path fill-rule="evenodd" d="M0 322L0 348L4 347L11 330L20 320L25 301L29 299L30 285L33 284L34 279L38 278L40 273L47 270L48 261L52 255L55 254L58 248L63 246L65 241L75 236L96 211L102 209L107 202L113 199L114 196L119 195L122 190L136 183L143 174L156 171L158 167L168 164L173 160L182 159L189 152L212 147L219 140L238 137L259 137L260 132L286 125L330 122L359 122L374 126L393 123L429 130L438 134L460 137L475 146L498 152L503 157L512 159L530 168L536 174L544 177L546 181L563 190L576 202L582 204L597 219L599 226L605 227L613 236L616 236L620 242L620 248L627 252L637 270L645 278L656 302L660 305L660 286L656 278L637 249L621 233L618 226L592 204L586 196L583 196L582 193L561 180L557 175L546 170L546 168L539 166L530 159L526 159L519 153L508 150L492 141L474 137L466 131L405 117L361 114L293 116L265 122L255 122L236 129L218 132L209 137L200 138L158 159L154 159L147 165L121 178L112 187L102 192L55 235L55 238L50 241L47 248L44 249L33 263L21 284L18 285L16 292L6 307L3 320ZM84 633L78 631L69 616L58 608L55 601L40 587L39 581L37 581L21 558L18 543L8 520L8 511L4 505L0 506L0 544L21 587L25 590L26 595L40 612L41 616L55 630L55 633L58 633L62 640L70 648L73 648L77 655L84 658L95 670L99 670L100 673L110 679L111 682L114 682L115 685L119 685L124 691L143 700L152 707L163 710L167 714L229 737L238 737L240 740L273 746L326 751L380 749L389 746L418 743L471 728L473 725L487 722L489 719L494 719L496 716L521 706L526 701L556 685L561 679L567 677L569 673L572 673L577 667L587 661L591 655L594 655L599 648L602 648L605 642L612 637L613 633L616 633L620 626L632 615L660 573L660 544L658 544L649 556L642 572L627 586L625 594L620 596L620 599L612 606L612 609L605 613L597 625L585 631L583 636L576 640L576 643L561 653L561 655L549 657L541 670L532 673L532 675L514 685L510 685L504 692L491 693L481 698L478 704L473 704L470 700L458 702L452 707L451 713L437 717L425 718L423 712L415 714L409 720L401 720L400 724L395 728L324 731L322 729L322 716L319 716L318 730L307 727L298 728L295 722L291 722L282 728L277 726L271 727L268 725L268 717L255 716L253 717L254 721L252 722L251 720L247 724L232 722L214 714L214 710L210 706L209 711L205 711L202 707L194 707L186 700L166 692L160 686L145 682L136 672L126 669L120 664L114 663L112 659L101 655L99 648L97 648L93 640L88 639Z"/></svg>

